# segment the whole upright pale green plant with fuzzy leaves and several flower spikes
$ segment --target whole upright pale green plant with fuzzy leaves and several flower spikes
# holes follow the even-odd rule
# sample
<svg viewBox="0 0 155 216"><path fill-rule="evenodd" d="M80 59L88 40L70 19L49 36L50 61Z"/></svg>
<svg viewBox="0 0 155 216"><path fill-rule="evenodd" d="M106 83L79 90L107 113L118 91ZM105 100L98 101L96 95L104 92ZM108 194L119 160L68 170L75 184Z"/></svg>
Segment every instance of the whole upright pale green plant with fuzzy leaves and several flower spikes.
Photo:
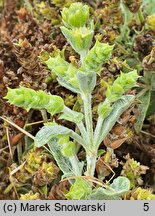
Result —
<svg viewBox="0 0 155 216"><path fill-rule="evenodd" d="M87 5L73 3L69 8L64 8L61 15L63 23L61 31L72 48L80 55L79 64L78 67L69 64L60 55L49 57L45 63L56 74L60 85L81 96L83 101L81 112L75 112L65 106L59 96L24 87L8 89L5 99L27 110L46 109L51 115L59 115L59 119L73 122L79 129L79 133L56 123L45 125L36 134L35 145L37 147L49 145L65 177L94 176L99 146L121 114L134 102L135 96L127 92L136 86L139 76L136 70L127 74L121 73L112 85L108 85L106 99L98 105L98 120L94 127L92 92L96 86L96 77L100 74L102 65L109 61L114 46L99 41L92 44L94 24L89 18ZM81 145L86 152L86 165L77 157L77 144ZM120 181L121 189L118 186ZM112 189L92 190L90 186L87 187L86 182L81 182L77 180L66 197L81 199L89 195L93 199L102 195L103 198L108 196L117 198L129 189L129 182L125 177L116 179L110 186ZM86 188L86 191L81 192L80 195L72 193L80 184Z"/></svg>

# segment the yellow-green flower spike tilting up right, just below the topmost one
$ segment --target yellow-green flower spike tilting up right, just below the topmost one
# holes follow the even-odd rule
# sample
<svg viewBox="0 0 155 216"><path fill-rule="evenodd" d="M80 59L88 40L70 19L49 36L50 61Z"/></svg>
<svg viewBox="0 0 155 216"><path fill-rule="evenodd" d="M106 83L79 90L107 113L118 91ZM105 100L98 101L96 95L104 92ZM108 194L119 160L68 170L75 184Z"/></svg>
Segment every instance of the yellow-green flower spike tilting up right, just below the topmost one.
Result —
<svg viewBox="0 0 155 216"><path fill-rule="evenodd" d="M112 50L113 46L96 41L94 47L85 56L81 70L100 72L102 64L109 60Z"/></svg>

